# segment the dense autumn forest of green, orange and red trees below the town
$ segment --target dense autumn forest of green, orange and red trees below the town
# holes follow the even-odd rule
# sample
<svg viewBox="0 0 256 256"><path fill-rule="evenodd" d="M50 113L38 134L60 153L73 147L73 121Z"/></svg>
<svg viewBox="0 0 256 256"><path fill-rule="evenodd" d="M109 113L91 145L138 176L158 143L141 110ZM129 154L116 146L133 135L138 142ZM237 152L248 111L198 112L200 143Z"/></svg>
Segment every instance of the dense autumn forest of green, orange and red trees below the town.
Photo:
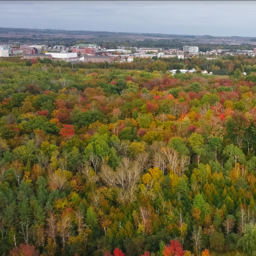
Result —
<svg viewBox="0 0 256 256"><path fill-rule="evenodd" d="M255 253L256 59L143 61L0 62L1 255Z"/></svg>

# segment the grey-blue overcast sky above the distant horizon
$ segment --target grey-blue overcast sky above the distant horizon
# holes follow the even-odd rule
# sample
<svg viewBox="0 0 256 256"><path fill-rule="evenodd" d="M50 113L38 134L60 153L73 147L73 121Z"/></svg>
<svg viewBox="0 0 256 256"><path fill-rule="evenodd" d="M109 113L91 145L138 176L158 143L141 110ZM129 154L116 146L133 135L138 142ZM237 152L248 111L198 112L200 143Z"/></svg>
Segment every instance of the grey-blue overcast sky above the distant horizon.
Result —
<svg viewBox="0 0 256 256"><path fill-rule="evenodd" d="M256 37L256 1L0 1L0 27Z"/></svg>

